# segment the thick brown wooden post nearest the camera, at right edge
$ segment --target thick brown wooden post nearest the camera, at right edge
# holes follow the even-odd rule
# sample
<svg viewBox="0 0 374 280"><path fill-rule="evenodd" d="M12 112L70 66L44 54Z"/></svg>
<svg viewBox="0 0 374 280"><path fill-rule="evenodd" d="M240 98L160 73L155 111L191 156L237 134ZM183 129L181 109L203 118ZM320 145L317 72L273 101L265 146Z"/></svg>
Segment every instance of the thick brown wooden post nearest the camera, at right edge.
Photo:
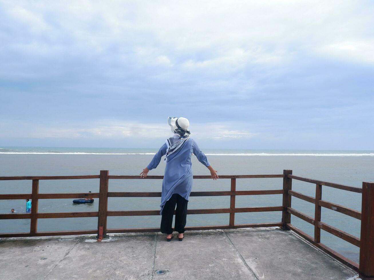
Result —
<svg viewBox="0 0 374 280"><path fill-rule="evenodd" d="M362 182L359 276L374 279L374 182Z"/></svg>

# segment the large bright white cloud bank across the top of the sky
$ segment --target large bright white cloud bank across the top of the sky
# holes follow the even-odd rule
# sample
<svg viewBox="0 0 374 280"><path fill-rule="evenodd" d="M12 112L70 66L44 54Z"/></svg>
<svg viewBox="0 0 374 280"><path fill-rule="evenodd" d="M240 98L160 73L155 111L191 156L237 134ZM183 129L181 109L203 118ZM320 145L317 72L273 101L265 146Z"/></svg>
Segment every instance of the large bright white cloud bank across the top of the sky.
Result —
<svg viewBox="0 0 374 280"><path fill-rule="evenodd" d="M361 1L7 1L3 6L12 24L44 32L53 48L108 55L116 46L110 59L128 60L135 53L141 65L178 61L190 71L235 71L290 61L298 51L373 62L373 10L362 10ZM52 55L45 47L30 51Z"/></svg>

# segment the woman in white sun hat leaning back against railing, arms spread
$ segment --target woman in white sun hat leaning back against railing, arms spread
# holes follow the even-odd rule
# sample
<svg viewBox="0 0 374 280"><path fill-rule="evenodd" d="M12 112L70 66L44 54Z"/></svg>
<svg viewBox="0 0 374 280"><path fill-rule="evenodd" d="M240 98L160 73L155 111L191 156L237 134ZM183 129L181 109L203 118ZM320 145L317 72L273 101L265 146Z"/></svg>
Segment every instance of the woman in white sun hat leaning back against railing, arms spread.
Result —
<svg viewBox="0 0 374 280"><path fill-rule="evenodd" d="M175 205L177 205L174 230L178 231L178 239L182 241L184 227L186 226L187 203L193 180L191 155L194 154L209 169L213 180L217 180L218 171L210 165L196 142L190 139L190 131L188 130L190 122L188 122L188 119L169 117L168 124L171 127L172 133L174 133L173 136L166 140L166 143L154 155L150 164L140 173L140 177L147 177L148 172L156 168L160 163L161 157L166 155L164 159L166 167L162 181L160 204L160 215L162 215L161 232L166 234L167 241L170 241L174 237L172 222Z"/></svg>

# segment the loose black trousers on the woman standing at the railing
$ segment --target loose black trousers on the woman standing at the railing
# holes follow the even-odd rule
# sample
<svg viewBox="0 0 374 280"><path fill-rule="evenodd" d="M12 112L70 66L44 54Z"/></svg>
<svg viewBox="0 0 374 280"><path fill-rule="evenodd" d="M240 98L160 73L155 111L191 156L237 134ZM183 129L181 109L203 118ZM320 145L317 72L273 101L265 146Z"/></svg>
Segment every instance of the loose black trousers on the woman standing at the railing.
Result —
<svg viewBox="0 0 374 280"><path fill-rule="evenodd" d="M188 200L184 199L177 193L174 193L168 201L166 201L162 209L162 218L161 218L161 232L166 234L172 234L173 228L173 215L175 205L177 209L175 210L175 224L174 230L179 233L184 233L184 227L186 226L187 221L187 203Z"/></svg>

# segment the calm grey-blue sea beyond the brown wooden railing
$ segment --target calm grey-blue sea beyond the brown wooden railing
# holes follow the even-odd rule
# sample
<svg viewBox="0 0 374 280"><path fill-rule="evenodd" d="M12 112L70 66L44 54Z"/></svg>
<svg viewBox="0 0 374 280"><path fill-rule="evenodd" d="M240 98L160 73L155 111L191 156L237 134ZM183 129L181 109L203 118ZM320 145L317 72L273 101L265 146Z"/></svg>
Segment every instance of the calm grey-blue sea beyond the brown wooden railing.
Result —
<svg viewBox="0 0 374 280"><path fill-rule="evenodd" d="M83 148L83 147L0 147L0 176L139 175L158 149ZM362 187L374 181L373 150L239 150L202 149L218 175L292 174L322 181ZM209 175L208 169L192 158L194 175ZM163 175L161 160L148 175ZM160 192L161 180L109 180L110 192ZM237 190L282 189L282 178L247 178L236 180ZM292 180L292 189L315 196L315 184ZM230 190L230 179L195 179L193 191ZM98 192L99 179L41 180L40 193ZM31 193L31 181L0 181L0 193ZM78 198L78 197L77 197ZM361 211L361 194L322 187L322 199ZM110 197L108 210L158 210L160 197ZM236 207L281 206L282 195L237 196ZM0 213L25 212L25 200L0 200ZM229 196L190 197L188 209L229 208ZM292 207L314 217L314 204L292 197ZM98 199L92 204L73 204L72 199L40 199L39 212L98 211ZM235 223L280 222L282 212L236 213ZM108 217L108 228L159 227L160 216ZM360 221L322 208L321 221L360 237ZM293 216L291 223L314 235L314 226ZM227 225L229 214L187 215L187 226ZM97 228L97 218L39 219L39 231L90 230ZM0 233L27 232L30 220L0 220ZM338 253L359 261L359 248L321 230L321 242ZM261 248L259 248L261 249Z"/></svg>

